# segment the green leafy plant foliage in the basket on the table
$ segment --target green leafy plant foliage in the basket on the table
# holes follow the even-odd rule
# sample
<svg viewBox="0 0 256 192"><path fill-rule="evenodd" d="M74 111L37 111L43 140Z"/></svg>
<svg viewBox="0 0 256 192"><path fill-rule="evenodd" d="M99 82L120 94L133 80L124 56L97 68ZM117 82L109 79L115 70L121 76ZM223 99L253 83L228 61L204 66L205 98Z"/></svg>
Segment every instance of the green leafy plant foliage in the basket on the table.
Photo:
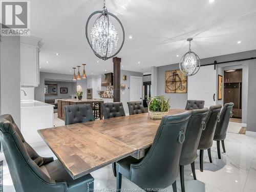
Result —
<svg viewBox="0 0 256 192"><path fill-rule="evenodd" d="M167 112L170 108L170 98L167 100L163 95L152 98L149 109L151 112Z"/></svg>

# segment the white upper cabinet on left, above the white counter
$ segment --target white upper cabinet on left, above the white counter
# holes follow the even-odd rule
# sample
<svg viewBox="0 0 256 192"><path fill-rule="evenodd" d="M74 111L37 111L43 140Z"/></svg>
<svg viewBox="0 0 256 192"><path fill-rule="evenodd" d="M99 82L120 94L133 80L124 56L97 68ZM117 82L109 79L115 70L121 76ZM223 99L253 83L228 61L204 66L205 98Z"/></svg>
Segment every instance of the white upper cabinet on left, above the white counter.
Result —
<svg viewBox="0 0 256 192"><path fill-rule="evenodd" d="M41 38L20 37L20 84L38 87Z"/></svg>

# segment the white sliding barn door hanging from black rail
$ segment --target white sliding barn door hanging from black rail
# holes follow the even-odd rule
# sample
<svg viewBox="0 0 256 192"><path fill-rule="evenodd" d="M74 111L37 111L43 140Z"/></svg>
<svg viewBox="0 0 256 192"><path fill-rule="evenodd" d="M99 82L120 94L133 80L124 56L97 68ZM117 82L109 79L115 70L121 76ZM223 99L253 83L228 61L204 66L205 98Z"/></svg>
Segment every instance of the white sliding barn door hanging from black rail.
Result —
<svg viewBox="0 0 256 192"><path fill-rule="evenodd" d="M196 75L188 77L188 100L204 100L204 106L216 105L217 71L212 66L203 66Z"/></svg>

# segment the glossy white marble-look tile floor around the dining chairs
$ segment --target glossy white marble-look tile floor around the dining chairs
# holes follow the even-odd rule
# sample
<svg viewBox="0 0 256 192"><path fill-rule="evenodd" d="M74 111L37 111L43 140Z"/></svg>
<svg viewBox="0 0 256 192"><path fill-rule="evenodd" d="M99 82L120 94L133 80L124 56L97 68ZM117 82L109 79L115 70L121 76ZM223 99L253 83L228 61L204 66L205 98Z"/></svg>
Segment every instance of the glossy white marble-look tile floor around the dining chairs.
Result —
<svg viewBox="0 0 256 192"><path fill-rule="evenodd" d="M255 192L256 191L256 137L238 134L240 123L231 123L225 140L226 154L222 153L222 159L218 159L216 142L211 148L212 163L209 163L207 151L204 152L204 172L199 170L199 158L196 160L197 180L191 175L190 165L185 169L185 189L187 192ZM47 146L36 147L35 150L41 156L53 156ZM3 153L0 160L4 160L4 191L14 192L15 189L9 174ZM95 178L95 191L114 191L116 178L113 176L112 166L106 166L92 173ZM177 187L180 191L180 179L177 178ZM122 189L140 188L123 177ZM134 191L134 190L133 190ZM172 186L166 191L173 191Z"/></svg>

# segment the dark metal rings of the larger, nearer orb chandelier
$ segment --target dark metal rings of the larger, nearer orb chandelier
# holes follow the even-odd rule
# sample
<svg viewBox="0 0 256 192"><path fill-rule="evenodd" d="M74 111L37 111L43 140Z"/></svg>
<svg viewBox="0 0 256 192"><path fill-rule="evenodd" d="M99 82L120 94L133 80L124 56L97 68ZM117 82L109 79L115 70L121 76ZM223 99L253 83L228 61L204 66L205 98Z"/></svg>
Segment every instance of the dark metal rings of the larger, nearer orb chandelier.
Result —
<svg viewBox="0 0 256 192"><path fill-rule="evenodd" d="M106 9L105 9L105 10L106 10ZM89 43L91 49L93 50L94 54L95 54L97 57L99 57L100 59L107 60L107 59L109 59L109 58L112 58L112 57L116 56L116 55L121 51L121 49L122 49L122 47L123 47L123 44L124 44L125 32L124 32L123 25L122 25L121 21L119 20L119 18L117 18L117 16L115 16L114 14L112 14L112 13L110 13L110 12L108 12L108 11L106 10L106 11L105 11L105 16L106 16L106 18L108 18L108 33L109 33L109 15L110 15L110 16L114 17L114 18L117 20L117 22L119 23L119 25L121 26L122 32L123 32L123 39L122 39L121 46L120 46L120 48L117 50L116 53L114 53L114 54L112 54L111 56L108 57L108 56L107 56L107 55L108 55L108 45L107 45L107 48L106 48L107 50L106 50L105 55L104 55L104 56L99 55L99 54L97 53L97 51L95 51L95 49L93 48L92 43L91 43L91 41L90 41L90 39L89 39L89 37L88 37L88 24L89 24L89 22L90 22L90 19L92 18L93 15L98 14L98 13L100 13L100 15L99 15L99 16L97 17L97 19L95 20L95 22L94 22L94 24L95 24L96 21L97 21L101 16L104 16L104 13L103 13L102 11L95 11L95 12L93 12L93 13L88 17L88 19L87 19L87 23L86 23L86 38L87 38L87 41L88 41L88 43ZM107 44L109 44L109 34L108 34L108 41L107 41Z"/></svg>

